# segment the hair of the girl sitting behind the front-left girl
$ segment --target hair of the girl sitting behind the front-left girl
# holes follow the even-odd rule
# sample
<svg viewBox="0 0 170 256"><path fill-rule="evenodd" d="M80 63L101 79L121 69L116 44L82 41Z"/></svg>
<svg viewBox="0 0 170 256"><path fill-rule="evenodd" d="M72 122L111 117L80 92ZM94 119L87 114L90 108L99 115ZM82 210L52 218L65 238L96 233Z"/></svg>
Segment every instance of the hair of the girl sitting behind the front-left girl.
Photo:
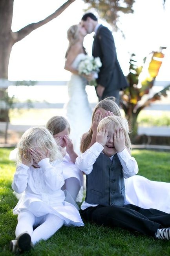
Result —
<svg viewBox="0 0 170 256"><path fill-rule="evenodd" d="M46 128L51 132L53 136L59 132L64 131L66 128L68 128L68 132L70 133L69 122L64 117L59 115L51 117L46 124Z"/></svg>

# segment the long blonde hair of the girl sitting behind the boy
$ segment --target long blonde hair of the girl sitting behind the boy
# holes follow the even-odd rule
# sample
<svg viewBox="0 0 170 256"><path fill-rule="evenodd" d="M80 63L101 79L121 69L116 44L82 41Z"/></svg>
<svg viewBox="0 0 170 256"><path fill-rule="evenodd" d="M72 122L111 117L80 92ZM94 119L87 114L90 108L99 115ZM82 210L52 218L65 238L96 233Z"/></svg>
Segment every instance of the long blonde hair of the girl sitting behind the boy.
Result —
<svg viewBox="0 0 170 256"><path fill-rule="evenodd" d="M95 113L99 108L103 108L106 111L113 112L113 115L121 116L119 106L115 101L116 101L115 97L108 97L108 98L105 98L104 100L99 101L95 106L95 108L93 109L92 122L93 122ZM90 142L91 142L92 135L93 135L93 131L92 131L92 128L90 128L86 137L84 137L81 141L80 150L82 153L88 149L88 146L90 145Z"/></svg>

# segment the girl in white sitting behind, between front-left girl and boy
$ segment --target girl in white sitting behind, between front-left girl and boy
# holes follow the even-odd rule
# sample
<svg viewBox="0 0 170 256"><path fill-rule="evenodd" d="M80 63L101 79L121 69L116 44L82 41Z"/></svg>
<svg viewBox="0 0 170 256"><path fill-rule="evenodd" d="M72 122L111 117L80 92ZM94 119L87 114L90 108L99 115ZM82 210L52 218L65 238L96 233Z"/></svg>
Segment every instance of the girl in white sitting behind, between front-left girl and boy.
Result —
<svg viewBox="0 0 170 256"><path fill-rule="evenodd" d="M78 155L75 153L73 143L69 138L69 122L64 117L54 116L49 119L46 128L55 138L57 145L62 147L62 167L65 182L62 186L62 190L66 189L75 201L81 202L83 195L81 195L79 191L80 187L83 186L83 174L75 165L75 160ZM77 198L78 193L79 198Z"/></svg>

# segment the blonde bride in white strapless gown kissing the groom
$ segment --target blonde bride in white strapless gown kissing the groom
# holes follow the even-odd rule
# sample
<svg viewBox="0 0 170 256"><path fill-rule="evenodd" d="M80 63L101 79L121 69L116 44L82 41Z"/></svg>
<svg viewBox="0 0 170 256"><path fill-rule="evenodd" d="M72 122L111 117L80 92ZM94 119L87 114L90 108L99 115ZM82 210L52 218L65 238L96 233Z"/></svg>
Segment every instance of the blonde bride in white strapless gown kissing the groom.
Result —
<svg viewBox="0 0 170 256"><path fill-rule="evenodd" d="M68 82L69 101L64 106L66 118L71 126L70 138L73 141L74 150L80 154L80 139L82 134L89 130L91 125L92 109L88 102L86 85L92 80L93 75L79 75L79 62L86 56L83 46L86 30L79 24L68 29L67 38L69 41L66 51L66 62L64 69L71 72Z"/></svg>

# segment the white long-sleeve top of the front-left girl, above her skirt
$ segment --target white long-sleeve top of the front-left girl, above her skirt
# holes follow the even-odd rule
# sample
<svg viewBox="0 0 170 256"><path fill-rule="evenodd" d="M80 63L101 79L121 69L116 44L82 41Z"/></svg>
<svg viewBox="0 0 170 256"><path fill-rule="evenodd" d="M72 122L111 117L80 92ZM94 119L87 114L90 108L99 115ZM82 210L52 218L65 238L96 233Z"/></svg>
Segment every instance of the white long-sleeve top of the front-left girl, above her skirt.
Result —
<svg viewBox="0 0 170 256"><path fill-rule="evenodd" d="M38 165L40 168L36 169L20 163L14 174L13 190L17 193L25 191L42 200L50 195L59 196L64 185L62 163L58 160L50 163L49 158L44 158Z"/></svg>

